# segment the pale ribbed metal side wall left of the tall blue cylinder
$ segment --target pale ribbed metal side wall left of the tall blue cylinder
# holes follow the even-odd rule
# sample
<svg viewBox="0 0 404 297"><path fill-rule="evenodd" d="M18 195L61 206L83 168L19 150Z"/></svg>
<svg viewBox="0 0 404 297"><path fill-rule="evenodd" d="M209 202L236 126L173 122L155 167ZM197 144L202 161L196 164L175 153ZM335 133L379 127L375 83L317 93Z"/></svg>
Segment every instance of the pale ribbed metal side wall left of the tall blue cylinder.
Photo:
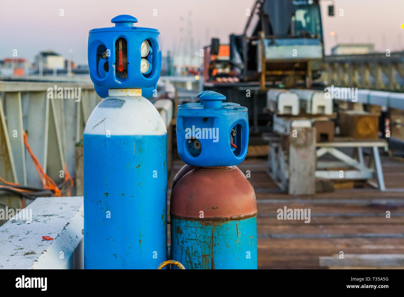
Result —
<svg viewBox="0 0 404 297"><path fill-rule="evenodd" d="M0 177L42 187L25 149L24 132L49 177L57 184L63 181L65 166L74 176L75 144L82 139L88 116L99 101L89 82L0 81ZM18 199L4 195L0 203L21 206Z"/></svg>

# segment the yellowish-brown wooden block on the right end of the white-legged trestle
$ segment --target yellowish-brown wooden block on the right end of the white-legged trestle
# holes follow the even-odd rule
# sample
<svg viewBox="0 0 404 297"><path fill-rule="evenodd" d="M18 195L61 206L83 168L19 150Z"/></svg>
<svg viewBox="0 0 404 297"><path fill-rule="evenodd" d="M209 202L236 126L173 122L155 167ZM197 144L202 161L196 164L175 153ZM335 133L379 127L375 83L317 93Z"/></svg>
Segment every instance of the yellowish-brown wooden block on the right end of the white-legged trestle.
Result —
<svg viewBox="0 0 404 297"><path fill-rule="evenodd" d="M339 127L342 136L355 139L378 139L379 117L370 112L347 110L339 112Z"/></svg>

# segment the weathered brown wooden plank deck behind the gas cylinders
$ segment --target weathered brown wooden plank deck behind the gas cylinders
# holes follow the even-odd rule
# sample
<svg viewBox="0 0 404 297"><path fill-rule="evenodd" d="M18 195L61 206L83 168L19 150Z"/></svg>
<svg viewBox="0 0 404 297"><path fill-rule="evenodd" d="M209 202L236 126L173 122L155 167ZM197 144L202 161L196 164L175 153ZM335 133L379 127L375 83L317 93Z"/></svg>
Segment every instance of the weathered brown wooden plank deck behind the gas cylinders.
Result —
<svg viewBox="0 0 404 297"><path fill-rule="evenodd" d="M388 156L381 156L381 161L386 192L364 185L314 196L291 196L271 181L265 158L244 160L238 167L244 174L250 171L249 181L257 196L258 268L321 269L318 257L340 251L404 253L404 162ZM174 161L169 188L182 166L181 160ZM284 206L310 209L311 222L278 220L277 209ZM386 210L391 212L390 219L385 217Z"/></svg>

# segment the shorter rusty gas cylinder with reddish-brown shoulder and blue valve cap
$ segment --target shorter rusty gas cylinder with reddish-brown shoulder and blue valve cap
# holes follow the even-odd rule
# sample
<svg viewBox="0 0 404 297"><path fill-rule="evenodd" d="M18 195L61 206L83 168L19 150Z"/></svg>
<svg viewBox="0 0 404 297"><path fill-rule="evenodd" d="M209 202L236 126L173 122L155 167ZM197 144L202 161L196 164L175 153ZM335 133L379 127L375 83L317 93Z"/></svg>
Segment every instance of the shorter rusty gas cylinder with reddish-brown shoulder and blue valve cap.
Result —
<svg viewBox="0 0 404 297"><path fill-rule="evenodd" d="M187 165L171 193L171 259L186 269L257 269L257 201L236 166L247 153L247 109L212 91L198 97L177 110Z"/></svg>

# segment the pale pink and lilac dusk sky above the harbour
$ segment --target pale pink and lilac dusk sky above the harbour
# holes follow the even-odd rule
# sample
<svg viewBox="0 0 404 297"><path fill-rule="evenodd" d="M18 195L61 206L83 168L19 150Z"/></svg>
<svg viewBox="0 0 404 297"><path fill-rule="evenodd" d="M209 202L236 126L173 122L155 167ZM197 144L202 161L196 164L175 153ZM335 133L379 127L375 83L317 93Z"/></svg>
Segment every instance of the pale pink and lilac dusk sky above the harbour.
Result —
<svg viewBox="0 0 404 297"><path fill-rule="evenodd" d="M335 16L327 6L335 4ZM0 59L17 55L33 61L51 49L79 64L87 63L88 31L110 27L112 17L133 15L139 27L159 29L162 52L183 51L189 23L194 49L210 38L229 42L241 34L246 10L255 0L1 0ZM336 43L374 43L376 51L404 48L404 0L320 0L326 54ZM343 9L343 16L339 16ZM63 16L61 15L63 10ZM156 15L157 14L157 15ZM330 32L335 32L331 36Z"/></svg>

